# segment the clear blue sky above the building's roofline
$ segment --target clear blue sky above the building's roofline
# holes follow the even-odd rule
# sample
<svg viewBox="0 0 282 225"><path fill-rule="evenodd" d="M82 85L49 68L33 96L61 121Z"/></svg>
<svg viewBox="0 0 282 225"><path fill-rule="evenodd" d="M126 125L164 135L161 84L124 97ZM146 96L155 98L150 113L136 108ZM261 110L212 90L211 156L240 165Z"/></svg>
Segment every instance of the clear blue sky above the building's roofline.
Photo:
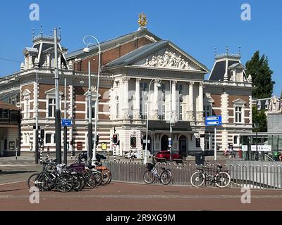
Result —
<svg viewBox="0 0 282 225"><path fill-rule="evenodd" d="M31 21L30 4L39 4L40 20ZM252 20L240 19L241 5L250 4ZM32 28L44 33L62 29L62 44L69 52L82 48L82 37L92 34L105 41L137 30L137 15L147 14L147 28L169 39L212 70L214 47L223 53L242 46L242 62L259 50L269 57L276 82L274 94L282 91L282 2L278 0L185 0L185 1L54 1L1 0L0 58L23 61L23 48L32 46ZM20 63L0 60L0 76L18 71Z"/></svg>

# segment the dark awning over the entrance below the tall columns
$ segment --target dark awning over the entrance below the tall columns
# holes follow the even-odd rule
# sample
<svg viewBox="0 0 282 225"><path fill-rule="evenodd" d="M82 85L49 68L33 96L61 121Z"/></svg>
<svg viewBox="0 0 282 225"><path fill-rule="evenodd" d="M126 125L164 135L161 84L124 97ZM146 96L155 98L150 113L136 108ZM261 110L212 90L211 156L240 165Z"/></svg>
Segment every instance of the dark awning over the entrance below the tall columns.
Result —
<svg viewBox="0 0 282 225"><path fill-rule="evenodd" d="M149 131L170 131L170 124L166 121L149 120ZM192 131L190 122L178 121L172 127L173 131Z"/></svg>

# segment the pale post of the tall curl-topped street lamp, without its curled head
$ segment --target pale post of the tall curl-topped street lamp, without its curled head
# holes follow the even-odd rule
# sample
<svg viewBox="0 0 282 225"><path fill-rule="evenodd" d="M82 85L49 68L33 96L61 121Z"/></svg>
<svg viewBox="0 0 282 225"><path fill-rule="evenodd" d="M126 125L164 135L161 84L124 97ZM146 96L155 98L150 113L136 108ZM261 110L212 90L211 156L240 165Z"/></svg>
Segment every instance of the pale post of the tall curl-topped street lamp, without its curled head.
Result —
<svg viewBox="0 0 282 225"><path fill-rule="evenodd" d="M96 39L94 37L94 39ZM97 94L96 94L96 107L95 107L95 128L94 128L94 148L93 148L93 155L92 155L92 165L94 165L94 162L97 161L96 158L96 150L97 150L97 123L98 123L98 117L99 117L99 82L100 82L100 65L101 65L101 46L99 44L99 41L97 41L97 46L99 48L99 61L98 61L98 77L97 77ZM119 152L119 151L118 151Z"/></svg>

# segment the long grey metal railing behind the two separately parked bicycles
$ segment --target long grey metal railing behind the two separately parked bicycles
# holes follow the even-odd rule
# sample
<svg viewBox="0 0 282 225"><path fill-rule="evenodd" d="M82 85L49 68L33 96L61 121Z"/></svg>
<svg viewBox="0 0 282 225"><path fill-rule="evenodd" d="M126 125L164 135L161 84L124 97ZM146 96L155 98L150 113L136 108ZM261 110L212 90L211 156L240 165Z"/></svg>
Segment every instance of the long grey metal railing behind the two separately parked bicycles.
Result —
<svg viewBox="0 0 282 225"><path fill-rule="evenodd" d="M146 165L139 162L111 162L104 161L104 165L111 170L114 181L123 181L126 183L145 184L143 175L147 170ZM217 165L205 165L206 171L213 175L216 172ZM190 177L197 171L197 165L160 163L157 165L158 172L161 167L171 169L171 185L192 186ZM282 167L281 166L247 166L247 165L224 165L221 171L226 171L231 175L230 188L241 188L247 186L250 188L264 189L282 189ZM155 184L161 184L157 179ZM214 184L204 184L204 186L215 186Z"/></svg>

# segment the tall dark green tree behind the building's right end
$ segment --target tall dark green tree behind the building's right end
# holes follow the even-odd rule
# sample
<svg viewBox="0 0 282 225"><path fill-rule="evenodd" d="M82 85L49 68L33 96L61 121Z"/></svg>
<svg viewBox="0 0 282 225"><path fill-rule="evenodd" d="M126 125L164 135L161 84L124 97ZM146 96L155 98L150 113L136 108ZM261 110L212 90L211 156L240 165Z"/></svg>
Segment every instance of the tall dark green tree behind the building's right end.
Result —
<svg viewBox="0 0 282 225"><path fill-rule="evenodd" d="M259 56L256 51L252 59L246 63L246 74L252 76L255 89L252 91L253 98L270 98L273 93L275 82L272 81L273 71L269 68L269 60L266 56Z"/></svg>

